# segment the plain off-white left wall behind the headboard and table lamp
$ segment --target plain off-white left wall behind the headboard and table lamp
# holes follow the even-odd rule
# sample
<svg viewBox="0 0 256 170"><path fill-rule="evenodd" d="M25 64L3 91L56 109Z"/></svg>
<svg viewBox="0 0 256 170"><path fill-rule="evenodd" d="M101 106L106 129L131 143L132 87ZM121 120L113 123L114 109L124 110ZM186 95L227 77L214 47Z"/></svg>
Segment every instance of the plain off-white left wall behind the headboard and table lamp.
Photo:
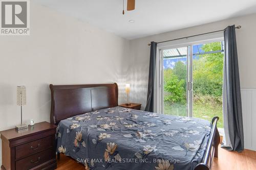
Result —
<svg viewBox="0 0 256 170"><path fill-rule="evenodd" d="M0 36L0 131L20 123L17 85L27 87L25 122L50 121L50 83L117 82L123 91L127 45L121 37L31 2L31 35Z"/></svg>

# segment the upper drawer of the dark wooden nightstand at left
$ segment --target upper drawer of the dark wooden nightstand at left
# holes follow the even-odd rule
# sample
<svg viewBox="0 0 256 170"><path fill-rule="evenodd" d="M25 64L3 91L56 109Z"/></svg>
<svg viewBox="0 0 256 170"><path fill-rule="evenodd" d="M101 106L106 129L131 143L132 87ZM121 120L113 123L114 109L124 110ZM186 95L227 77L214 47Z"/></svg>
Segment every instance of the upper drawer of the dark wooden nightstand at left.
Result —
<svg viewBox="0 0 256 170"><path fill-rule="evenodd" d="M15 147L15 158L23 158L51 148L54 145L54 136L47 136Z"/></svg>

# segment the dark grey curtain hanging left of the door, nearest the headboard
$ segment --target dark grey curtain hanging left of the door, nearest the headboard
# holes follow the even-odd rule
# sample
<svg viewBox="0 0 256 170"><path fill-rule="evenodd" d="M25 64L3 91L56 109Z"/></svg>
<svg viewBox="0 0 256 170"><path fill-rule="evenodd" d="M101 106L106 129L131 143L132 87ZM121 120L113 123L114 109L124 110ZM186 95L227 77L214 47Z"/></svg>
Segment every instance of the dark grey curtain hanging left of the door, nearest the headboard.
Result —
<svg viewBox="0 0 256 170"><path fill-rule="evenodd" d="M145 111L153 112L154 107L154 82L156 71L157 43L151 42L150 50L150 73L148 74L147 101Z"/></svg>

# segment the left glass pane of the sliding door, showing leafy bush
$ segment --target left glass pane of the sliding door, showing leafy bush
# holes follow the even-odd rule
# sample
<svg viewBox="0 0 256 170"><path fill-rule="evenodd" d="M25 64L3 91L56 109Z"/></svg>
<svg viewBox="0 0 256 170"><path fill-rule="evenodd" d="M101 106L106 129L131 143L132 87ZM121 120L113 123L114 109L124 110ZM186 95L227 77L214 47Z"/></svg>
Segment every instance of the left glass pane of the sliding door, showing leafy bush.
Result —
<svg viewBox="0 0 256 170"><path fill-rule="evenodd" d="M188 47L162 51L164 114L187 116Z"/></svg>

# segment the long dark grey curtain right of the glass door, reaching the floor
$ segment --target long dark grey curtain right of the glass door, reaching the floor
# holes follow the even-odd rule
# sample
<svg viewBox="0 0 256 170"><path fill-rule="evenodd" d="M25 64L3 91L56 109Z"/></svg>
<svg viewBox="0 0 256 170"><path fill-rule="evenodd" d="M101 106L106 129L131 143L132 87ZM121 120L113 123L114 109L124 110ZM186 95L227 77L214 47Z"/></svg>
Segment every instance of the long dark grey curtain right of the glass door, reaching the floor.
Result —
<svg viewBox="0 0 256 170"><path fill-rule="evenodd" d="M228 135L225 139L229 145L222 143L222 147L241 152L244 150L244 133L235 26L225 29L224 41L223 119L225 135Z"/></svg>

